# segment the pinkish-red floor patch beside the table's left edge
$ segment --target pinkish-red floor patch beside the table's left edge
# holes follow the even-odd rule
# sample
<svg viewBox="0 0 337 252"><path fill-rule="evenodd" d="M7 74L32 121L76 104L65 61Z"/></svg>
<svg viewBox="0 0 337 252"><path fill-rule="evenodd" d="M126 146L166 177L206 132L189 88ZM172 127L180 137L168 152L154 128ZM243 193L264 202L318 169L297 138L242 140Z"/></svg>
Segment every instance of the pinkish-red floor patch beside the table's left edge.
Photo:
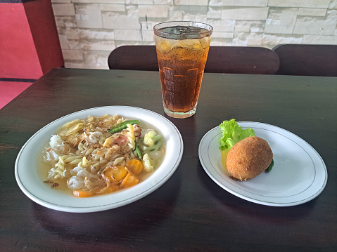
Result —
<svg viewBox="0 0 337 252"><path fill-rule="evenodd" d="M30 85L32 82L0 81L0 110Z"/></svg>

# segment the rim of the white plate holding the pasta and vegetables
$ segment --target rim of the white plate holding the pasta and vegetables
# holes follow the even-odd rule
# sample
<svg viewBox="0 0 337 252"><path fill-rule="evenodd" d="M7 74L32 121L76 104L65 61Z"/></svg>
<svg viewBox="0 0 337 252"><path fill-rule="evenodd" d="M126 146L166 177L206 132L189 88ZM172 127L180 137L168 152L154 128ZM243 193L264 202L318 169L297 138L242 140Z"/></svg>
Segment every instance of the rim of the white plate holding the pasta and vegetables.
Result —
<svg viewBox="0 0 337 252"><path fill-rule="evenodd" d="M165 122L165 124L167 124L167 127L171 128L172 130L174 130L177 134L175 135L175 138L178 138L179 142L177 143L177 146L179 146L178 149L178 153L179 155L177 156L177 159L174 160L174 164L172 164L172 166L170 165L170 169L165 171L165 173L163 175L160 175L160 180L155 181L154 185L151 185L151 187L148 187L146 190L140 190L139 193L136 193L133 197L127 197L125 199L120 199L119 201L109 201L109 203L107 204L101 204L99 206L70 206L69 204L57 204L55 202L50 202L50 201L45 201L44 199L40 199L39 195L35 195L34 193L30 192L30 190L28 190L25 185L27 186L27 183L23 183L22 179L20 178L19 175L19 171L20 171L20 158L23 157L23 154L25 154L27 150L27 145L30 145L30 142L32 140L34 140L35 138L37 138L37 136L39 134L42 133L42 131L45 131L46 128L50 128L51 126L54 126L57 122L59 121L63 121L68 117L74 117L77 114L80 113L84 113L84 112L90 112L93 110L109 110L109 109L113 109L116 112L112 112L112 114L118 114L117 110L134 110L134 113L136 113L136 110L141 110L142 112L145 113L149 113L151 117L157 117L157 119L161 119L163 120L163 122ZM110 113L109 113L110 114ZM121 114L125 114L125 112L122 112ZM90 114L87 114L87 116L89 116ZM127 115L123 115L123 117L127 117ZM130 116L130 117L134 117L134 116ZM145 123L148 124L152 124L150 121L145 121ZM56 127L56 126L54 126ZM56 127L57 128L57 127ZM46 136L46 142L48 141L48 139L51 137L51 135ZM57 211L64 211L64 212L72 212L72 213L89 213L89 212L96 212L96 211L106 211L112 208L117 208L120 206L125 206L127 204L131 204L134 201L137 201L139 199L142 199L144 197L146 197L148 194L151 194L152 192L154 192L155 190L157 190L159 187L161 187L174 173L174 171L177 170L177 167L179 166L181 160L182 160L182 155L184 152L184 142L182 139L182 135L179 132L179 129L177 128L177 126L175 126L172 121L170 121L169 119L163 117L161 114L158 114L156 112L153 112L151 110L146 110L144 108L141 107L133 107L133 106L126 106L126 105L111 105L111 106L101 106L101 107L91 107L91 108L87 108L84 110L79 110L76 112L72 112L70 114L65 114L63 117L59 117L58 119L55 119L53 121L51 121L49 124L46 124L45 126L43 126L42 128L40 128L37 132L35 132L23 145L23 147L21 147L20 152L18 153L18 156L15 159L15 180L18 183L18 186L20 187L20 190L23 191L23 193L30 198L32 201L34 201L35 203L45 206L47 208L51 208L53 210L57 210ZM160 167L158 167L160 168ZM153 176L155 173L153 173L151 176ZM158 177L158 173L155 176L155 178ZM150 178L148 178L150 179ZM147 180L144 180L144 182ZM150 180L151 181L151 180ZM146 183L146 185L148 185L148 183L150 183L150 181L148 181ZM142 183L141 183L142 184ZM139 184L139 185L141 185ZM146 186L145 185L145 186ZM142 186L144 187L144 186ZM139 187L140 188L140 187ZM129 188L128 190L132 190L134 188ZM135 191L135 190L133 190ZM126 192L124 194L127 194L127 190L123 191ZM61 192L62 193L62 192ZM112 196L113 194L105 194L102 195L101 197L109 197L111 199L113 199L114 197Z"/></svg>

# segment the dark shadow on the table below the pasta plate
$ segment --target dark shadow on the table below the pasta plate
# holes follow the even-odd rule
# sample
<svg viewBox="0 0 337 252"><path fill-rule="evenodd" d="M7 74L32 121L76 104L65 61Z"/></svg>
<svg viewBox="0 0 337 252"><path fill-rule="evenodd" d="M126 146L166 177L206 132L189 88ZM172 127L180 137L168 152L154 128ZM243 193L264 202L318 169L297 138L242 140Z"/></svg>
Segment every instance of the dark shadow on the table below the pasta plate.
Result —
<svg viewBox="0 0 337 252"><path fill-rule="evenodd" d="M142 232L153 230L153 226L160 225L174 211L179 187L180 180L176 175L143 199L119 208L94 213L67 213L32 202L32 212L44 230L65 239L104 237L111 241L116 238L137 239L137 235L141 239L144 237Z"/></svg>

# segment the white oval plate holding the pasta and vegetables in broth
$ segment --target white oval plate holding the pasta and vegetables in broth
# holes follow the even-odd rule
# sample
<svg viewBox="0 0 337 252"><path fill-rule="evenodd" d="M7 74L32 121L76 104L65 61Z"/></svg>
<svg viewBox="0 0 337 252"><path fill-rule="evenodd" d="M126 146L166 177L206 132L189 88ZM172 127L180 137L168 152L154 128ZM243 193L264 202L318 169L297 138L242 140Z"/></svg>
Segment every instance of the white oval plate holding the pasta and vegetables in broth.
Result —
<svg viewBox="0 0 337 252"><path fill-rule="evenodd" d="M68 121L85 119L89 115L98 117L104 114L119 114L126 119L139 119L141 123L151 124L160 130L166 141L166 152L162 164L149 178L120 192L89 198L76 198L61 190L51 189L43 182L37 171L37 155L43 150L51 135L55 134L56 130ZM183 149L182 135L177 127L160 114L138 107L95 107L61 117L32 135L23 145L16 159L15 178L27 197L42 206L75 213L103 211L130 204L157 190L177 169L182 159Z"/></svg>

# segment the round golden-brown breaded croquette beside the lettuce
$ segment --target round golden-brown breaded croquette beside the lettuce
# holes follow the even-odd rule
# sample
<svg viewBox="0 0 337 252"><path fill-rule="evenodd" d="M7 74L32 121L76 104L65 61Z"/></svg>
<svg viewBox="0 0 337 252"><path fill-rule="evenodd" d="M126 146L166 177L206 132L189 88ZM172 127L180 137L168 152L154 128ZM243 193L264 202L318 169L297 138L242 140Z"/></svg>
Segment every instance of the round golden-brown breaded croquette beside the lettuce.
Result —
<svg viewBox="0 0 337 252"><path fill-rule="evenodd" d="M250 180L265 171L272 163L273 152L268 142L256 136L234 145L227 155L227 171L234 179Z"/></svg>

